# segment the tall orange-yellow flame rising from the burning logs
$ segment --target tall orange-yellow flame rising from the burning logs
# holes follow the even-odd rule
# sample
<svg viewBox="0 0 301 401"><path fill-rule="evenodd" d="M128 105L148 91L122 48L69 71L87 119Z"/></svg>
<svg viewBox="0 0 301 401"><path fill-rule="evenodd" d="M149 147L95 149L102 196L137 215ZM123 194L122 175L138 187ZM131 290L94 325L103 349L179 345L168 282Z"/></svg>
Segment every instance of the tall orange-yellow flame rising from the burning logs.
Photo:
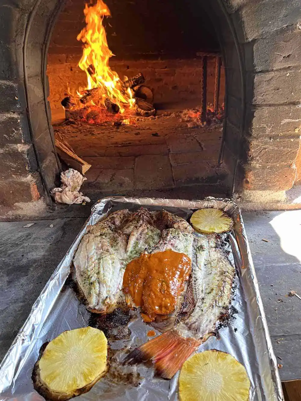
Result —
<svg viewBox="0 0 301 401"><path fill-rule="evenodd" d="M86 89L98 88L100 103L104 105L105 100L109 98L123 113L124 105L131 108L135 99L130 88L127 91L123 90L118 74L109 66L113 53L108 47L102 22L105 16L111 15L110 10L102 0L97 0L95 5L86 3L83 12L86 26L77 35L77 40L85 45L78 65L87 74Z"/></svg>

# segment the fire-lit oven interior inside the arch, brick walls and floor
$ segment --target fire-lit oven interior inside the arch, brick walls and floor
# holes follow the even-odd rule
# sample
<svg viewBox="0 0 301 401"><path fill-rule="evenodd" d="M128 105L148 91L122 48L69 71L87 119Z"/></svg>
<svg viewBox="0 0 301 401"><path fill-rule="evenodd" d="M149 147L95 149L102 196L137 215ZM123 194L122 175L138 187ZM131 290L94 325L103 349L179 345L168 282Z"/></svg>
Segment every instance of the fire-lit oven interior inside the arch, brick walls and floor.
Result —
<svg viewBox="0 0 301 401"><path fill-rule="evenodd" d="M136 116L129 125L113 125L115 117L94 122L66 122L63 98L85 88L87 76L78 62L85 25L83 0L68 0L56 20L47 55L51 123L55 137L65 140L85 162L82 190L100 192L179 188L203 185L226 191L227 170L218 164L222 144L225 75L214 25L201 3L108 0L104 17L110 67L120 79L142 73L153 91L156 115ZM204 124L197 115L202 99L202 61L207 63L206 103L214 108L218 63L219 119ZM69 88L69 90L68 90ZM215 93L215 97L217 94ZM198 114L197 114L198 113ZM118 113L117 119L124 117ZM115 121L115 122L114 122ZM64 158L60 161L64 165Z"/></svg>

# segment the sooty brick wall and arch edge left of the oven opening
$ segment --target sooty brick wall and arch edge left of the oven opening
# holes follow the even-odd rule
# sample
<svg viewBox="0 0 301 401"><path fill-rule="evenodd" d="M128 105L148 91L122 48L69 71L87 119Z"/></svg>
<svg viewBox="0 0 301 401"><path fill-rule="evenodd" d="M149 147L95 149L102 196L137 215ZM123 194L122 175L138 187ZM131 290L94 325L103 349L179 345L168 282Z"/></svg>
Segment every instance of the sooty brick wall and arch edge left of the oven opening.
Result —
<svg viewBox="0 0 301 401"><path fill-rule="evenodd" d="M53 4L33 14L29 29L32 3L4 1L0 6L0 213L41 197L47 201L58 173L41 77L39 40L45 32L35 25Z"/></svg>

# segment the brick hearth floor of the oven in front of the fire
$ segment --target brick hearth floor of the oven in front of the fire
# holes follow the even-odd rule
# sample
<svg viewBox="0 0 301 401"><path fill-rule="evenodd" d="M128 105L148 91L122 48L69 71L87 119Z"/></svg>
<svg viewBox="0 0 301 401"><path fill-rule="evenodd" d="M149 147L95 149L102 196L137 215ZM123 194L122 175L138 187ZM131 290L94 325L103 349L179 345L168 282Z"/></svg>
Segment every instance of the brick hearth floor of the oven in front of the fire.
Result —
<svg viewBox="0 0 301 401"><path fill-rule="evenodd" d="M222 184L227 176L224 166L217 165L222 124L188 128L179 115L162 113L129 126L54 126L76 154L92 164L81 190L93 194Z"/></svg>

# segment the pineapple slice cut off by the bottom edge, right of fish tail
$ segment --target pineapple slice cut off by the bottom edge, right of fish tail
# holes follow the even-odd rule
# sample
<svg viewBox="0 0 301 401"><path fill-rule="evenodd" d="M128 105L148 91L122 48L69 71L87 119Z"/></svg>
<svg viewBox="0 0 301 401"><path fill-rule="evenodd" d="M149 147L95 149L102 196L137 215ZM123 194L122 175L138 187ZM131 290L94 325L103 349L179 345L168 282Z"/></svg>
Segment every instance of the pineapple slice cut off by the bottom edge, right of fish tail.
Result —
<svg viewBox="0 0 301 401"><path fill-rule="evenodd" d="M246 369L230 354L209 350L194 354L182 366L181 401L248 401Z"/></svg>

